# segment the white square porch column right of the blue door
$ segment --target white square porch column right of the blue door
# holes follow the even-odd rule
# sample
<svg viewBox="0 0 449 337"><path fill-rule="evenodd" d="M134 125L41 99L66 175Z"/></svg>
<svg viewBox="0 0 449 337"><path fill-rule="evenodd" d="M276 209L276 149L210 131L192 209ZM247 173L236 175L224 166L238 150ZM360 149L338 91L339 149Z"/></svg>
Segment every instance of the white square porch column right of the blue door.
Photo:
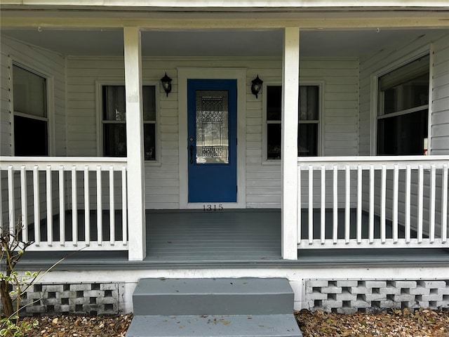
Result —
<svg viewBox="0 0 449 337"><path fill-rule="evenodd" d="M297 259L297 124L300 29L286 27L282 66L282 257Z"/></svg>

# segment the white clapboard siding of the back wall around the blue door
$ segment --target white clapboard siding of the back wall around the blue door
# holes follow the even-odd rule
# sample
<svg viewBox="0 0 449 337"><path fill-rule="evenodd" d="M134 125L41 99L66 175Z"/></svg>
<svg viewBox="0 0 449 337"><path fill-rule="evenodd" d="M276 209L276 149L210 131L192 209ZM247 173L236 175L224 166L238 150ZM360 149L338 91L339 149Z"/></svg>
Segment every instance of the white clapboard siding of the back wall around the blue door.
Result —
<svg viewBox="0 0 449 337"><path fill-rule="evenodd" d="M246 86L246 200L248 207L281 206L280 164L266 165L262 153L262 99L250 92L257 74L267 84L281 84L281 58L173 58L142 60L144 84L159 84L165 72L173 79L166 96L159 86L159 136L157 163L145 164L147 209L179 208L179 139L177 67L245 67ZM323 155L356 155L358 61L356 59L301 60L301 81L321 83ZM120 58L69 58L67 60L67 153L74 156L98 153L99 119L95 81L123 83ZM263 95L263 93L262 93ZM326 124L326 125L325 125ZM94 130L94 128L96 128ZM269 169L269 170L266 170ZM273 183L275 182L275 184Z"/></svg>

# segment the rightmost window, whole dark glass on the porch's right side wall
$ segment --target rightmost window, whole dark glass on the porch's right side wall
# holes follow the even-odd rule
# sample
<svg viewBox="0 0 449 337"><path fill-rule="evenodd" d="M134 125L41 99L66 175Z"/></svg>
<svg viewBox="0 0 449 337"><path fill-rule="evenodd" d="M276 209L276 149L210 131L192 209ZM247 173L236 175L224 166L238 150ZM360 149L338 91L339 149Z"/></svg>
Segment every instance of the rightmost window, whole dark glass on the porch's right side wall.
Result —
<svg viewBox="0 0 449 337"><path fill-rule="evenodd" d="M424 154L429 115L429 55L378 79L377 154Z"/></svg>

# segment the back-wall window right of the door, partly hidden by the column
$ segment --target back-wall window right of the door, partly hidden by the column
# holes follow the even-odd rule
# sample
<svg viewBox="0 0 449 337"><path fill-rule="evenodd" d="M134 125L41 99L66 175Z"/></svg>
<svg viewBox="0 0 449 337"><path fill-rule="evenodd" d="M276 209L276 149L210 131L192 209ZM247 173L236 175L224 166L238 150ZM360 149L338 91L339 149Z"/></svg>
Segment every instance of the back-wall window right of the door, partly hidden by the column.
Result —
<svg viewBox="0 0 449 337"><path fill-rule="evenodd" d="M282 86L267 86L267 159L281 159ZM300 86L298 157L317 156L319 86Z"/></svg>

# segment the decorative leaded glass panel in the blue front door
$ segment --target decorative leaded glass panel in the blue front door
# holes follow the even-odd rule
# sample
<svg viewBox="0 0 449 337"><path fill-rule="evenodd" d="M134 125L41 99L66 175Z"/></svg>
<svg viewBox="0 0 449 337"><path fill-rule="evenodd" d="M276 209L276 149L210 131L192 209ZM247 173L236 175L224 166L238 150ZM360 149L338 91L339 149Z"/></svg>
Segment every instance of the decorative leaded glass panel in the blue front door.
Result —
<svg viewBox="0 0 449 337"><path fill-rule="evenodd" d="M228 92L196 91L196 164L229 164Z"/></svg>

